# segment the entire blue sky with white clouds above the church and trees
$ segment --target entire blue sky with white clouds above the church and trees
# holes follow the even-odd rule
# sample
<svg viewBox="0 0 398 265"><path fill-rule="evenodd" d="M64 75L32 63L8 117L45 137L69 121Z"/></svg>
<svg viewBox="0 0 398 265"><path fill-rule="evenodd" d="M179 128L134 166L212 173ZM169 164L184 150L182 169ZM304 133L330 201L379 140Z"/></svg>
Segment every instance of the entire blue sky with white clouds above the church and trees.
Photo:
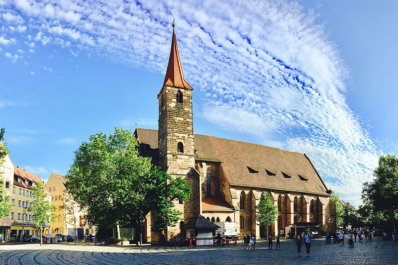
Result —
<svg viewBox="0 0 398 265"><path fill-rule="evenodd" d="M47 179L91 133L156 129L172 11L195 132L306 153L359 203L378 157L398 153L393 0L0 0L14 165Z"/></svg>

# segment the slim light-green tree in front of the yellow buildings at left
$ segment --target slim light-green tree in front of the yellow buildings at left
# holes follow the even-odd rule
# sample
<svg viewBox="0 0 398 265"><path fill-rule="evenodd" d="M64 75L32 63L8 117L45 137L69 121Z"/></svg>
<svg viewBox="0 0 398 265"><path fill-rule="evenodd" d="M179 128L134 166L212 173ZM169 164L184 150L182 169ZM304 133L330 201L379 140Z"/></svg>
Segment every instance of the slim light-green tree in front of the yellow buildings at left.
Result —
<svg viewBox="0 0 398 265"><path fill-rule="evenodd" d="M30 203L28 211L32 213L32 218L36 222L36 227L40 229L40 246L43 244L43 223L54 222L57 215L54 213L56 207L47 200L47 194L44 192L44 183L37 181L34 183L33 197L36 197Z"/></svg>

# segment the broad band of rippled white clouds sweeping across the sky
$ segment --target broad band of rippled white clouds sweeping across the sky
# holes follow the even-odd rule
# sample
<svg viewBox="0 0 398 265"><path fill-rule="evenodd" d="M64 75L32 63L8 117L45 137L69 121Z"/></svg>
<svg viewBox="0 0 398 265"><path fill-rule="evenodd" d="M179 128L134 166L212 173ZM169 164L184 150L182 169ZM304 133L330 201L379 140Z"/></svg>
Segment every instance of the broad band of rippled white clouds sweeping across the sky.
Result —
<svg viewBox="0 0 398 265"><path fill-rule="evenodd" d="M29 32L27 49L48 37L72 54L98 52L162 73L174 11L185 76L200 89L202 117L307 153L343 199L359 198L362 182L372 178L381 152L346 102L349 71L314 24L314 11L296 1L37 0L6 2L0 11L12 15L4 23L40 29Z"/></svg>

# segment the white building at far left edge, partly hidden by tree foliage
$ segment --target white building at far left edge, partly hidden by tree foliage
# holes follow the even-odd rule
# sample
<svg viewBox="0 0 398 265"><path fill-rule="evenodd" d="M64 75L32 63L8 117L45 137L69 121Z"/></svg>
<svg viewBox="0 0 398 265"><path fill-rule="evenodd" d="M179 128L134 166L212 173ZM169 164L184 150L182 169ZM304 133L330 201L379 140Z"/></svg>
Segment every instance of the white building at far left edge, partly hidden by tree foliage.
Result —
<svg viewBox="0 0 398 265"><path fill-rule="evenodd" d="M0 145L3 143L0 141ZM14 165L8 155L4 158L4 163L0 165L0 185L5 188L6 194L12 194L12 181L14 178ZM2 180L1 180L2 179ZM13 213L10 213L8 217L0 219L0 242L8 242L10 239L11 229L11 217Z"/></svg>

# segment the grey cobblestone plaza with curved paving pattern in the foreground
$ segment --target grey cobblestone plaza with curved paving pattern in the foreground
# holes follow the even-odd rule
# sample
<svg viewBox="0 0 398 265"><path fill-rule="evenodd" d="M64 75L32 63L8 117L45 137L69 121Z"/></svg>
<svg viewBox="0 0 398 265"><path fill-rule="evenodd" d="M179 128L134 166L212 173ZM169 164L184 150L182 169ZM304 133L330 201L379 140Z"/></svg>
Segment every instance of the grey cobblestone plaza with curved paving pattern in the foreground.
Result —
<svg viewBox="0 0 398 265"><path fill-rule="evenodd" d="M281 250L269 250L266 242L259 242L255 250L245 250L242 243L192 248L13 244L0 245L0 264L398 264L398 243L381 238L357 242L354 248L313 240L310 257L302 246L301 258L292 240L281 245Z"/></svg>

